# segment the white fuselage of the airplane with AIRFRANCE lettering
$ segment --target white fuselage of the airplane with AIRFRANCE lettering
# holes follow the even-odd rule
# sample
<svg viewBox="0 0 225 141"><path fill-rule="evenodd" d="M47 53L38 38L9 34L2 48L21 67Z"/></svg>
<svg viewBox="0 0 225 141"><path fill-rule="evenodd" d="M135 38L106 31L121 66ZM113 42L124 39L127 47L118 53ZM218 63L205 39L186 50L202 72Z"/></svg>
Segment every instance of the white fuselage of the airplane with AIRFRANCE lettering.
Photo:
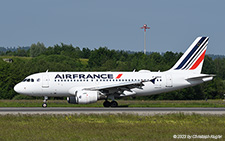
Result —
<svg viewBox="0 0 225 141"><path fill-rule="evenodd" d="M116 78L120 74L122 76ZM74 78L73 75L78 77ZM87 76L89 78L86 78ZM96 77L90 78L94 76ZM124 91L120 95L146 96L186 88L212 80L211 76L205 79L187 81L186 78L190 76L195 76L195 74L184 74L182 72L174 74L167 71L150 72L147 70L140 72L45 72L28 76L26 79L33 79L34 82L20 82L15 86L15 90L18 93L31 96L67 97L83 88L143 81L141 88L133 88L131 91ZM149 81L154 78L156 78L155 83Z"/></svg>

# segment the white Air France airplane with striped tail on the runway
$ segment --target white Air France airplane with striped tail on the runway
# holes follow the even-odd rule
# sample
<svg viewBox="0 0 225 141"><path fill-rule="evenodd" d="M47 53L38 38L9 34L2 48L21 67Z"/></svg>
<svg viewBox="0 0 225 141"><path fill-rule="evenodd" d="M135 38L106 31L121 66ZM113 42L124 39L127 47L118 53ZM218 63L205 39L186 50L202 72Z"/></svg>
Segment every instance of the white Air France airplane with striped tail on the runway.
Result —
<svg viewBox="0 0 225 141"><path fill-rule="evenodd" d="M18 83L14 90L30 96L67 97L70 104L105 100L104 107L117 107L115 98L147 96L195 86L213 79L201 74L209 37L197 37L176 64L164 72L42 72ZM109 101L111 100L111 102Z"/></svg>

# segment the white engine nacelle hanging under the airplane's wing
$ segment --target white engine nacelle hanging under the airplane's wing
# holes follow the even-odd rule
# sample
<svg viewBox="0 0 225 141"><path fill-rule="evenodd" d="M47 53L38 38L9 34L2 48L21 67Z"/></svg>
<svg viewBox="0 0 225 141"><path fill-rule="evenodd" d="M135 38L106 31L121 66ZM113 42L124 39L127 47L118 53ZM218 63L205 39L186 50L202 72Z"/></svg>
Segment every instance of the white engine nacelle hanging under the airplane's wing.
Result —
<svg viewBox="0 0 225 141"><path fill-rule="evenodd" d="M67 97L70 104L88 104L97 102L101 98L99 91L76 91L75 96Z"/></svg>

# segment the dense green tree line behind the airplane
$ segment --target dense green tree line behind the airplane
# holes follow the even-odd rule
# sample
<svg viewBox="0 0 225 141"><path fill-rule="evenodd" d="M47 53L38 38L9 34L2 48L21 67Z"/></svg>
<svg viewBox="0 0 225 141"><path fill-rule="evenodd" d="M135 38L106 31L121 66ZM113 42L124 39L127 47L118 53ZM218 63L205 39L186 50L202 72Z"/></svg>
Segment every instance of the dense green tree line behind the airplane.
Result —
<svg viewBox="0 0 225 141"><path fill-rule="evenodd" d="M0 59L0 99L13 99L18 94L13 87L26 76L49 71L166 71L170 69L183 53L142 52L110 50L107 47L89 48L56 44L45 47L43 43L32 44L29 49L0 52L1 56L13 58L13 63ZM19 57L18 57L19 56ZM4 57L3 57L4 58ZM159 100L199 100L219 99L225 93L225 59L205 57L202 73L215 74L213 81L186 89L160 95L136 97L136 99Z"/></svg>

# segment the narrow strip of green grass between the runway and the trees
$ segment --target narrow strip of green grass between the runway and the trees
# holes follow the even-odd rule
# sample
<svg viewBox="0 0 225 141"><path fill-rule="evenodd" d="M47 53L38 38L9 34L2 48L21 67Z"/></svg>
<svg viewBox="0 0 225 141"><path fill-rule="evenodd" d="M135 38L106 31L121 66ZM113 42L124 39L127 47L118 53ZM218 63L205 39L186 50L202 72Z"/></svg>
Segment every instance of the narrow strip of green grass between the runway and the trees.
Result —
<svg viewBox="0 0 225 141"><path fill-rule="evenodd" d="M49 100L48 107L103 107L104 101L92 104L68 104L66 100ZM118 100L120 107L225 107L223 100ZM40 107L43 100L0 100L0 107Z"/></svg>

